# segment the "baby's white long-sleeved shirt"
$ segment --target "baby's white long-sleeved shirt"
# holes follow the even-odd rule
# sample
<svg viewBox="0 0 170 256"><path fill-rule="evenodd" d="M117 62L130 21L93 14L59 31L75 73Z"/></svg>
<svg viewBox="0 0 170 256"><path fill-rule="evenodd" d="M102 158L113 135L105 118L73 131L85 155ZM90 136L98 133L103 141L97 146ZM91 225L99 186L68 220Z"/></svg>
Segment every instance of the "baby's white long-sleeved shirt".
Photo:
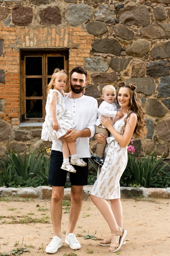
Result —
<svg viewBox="0 0 170 256"><path fill-rule="evenodd" d="M116 112L117 112L117 107L114 103L108 103L107 101L102 101L102 103L100 104L97 110L98 119L96 120L95 125L99 126L101 124L100 123L101 116L105 116L109 120L111 120L110 117L115 118ZM102 127L105 128L105 126L103 125Z"/></svg>

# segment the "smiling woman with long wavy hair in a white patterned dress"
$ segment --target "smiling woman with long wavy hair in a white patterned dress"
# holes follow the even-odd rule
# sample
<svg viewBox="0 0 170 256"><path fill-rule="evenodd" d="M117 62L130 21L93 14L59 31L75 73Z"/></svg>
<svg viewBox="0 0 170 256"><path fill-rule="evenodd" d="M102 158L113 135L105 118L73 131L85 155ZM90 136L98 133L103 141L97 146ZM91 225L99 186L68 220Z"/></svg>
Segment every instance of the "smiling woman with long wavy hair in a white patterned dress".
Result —
<svg viewBox="0 0 170 256"><path fill-rule="evenodd" d="M117 102L123 116L116 116L109 121L102 116L100 122L111 136L107 138L105 148L105 162L90 193L92 202L96 205L111 229L111 238L100 241L100 245L110 245L110 252L117 252L126 236L127 231L122 229L122 204L120 201L120 177L124 172L127 161L127 146L134 133L136 137L145 137L147 134L146 121L142 102L137 97L136 85L120 83ZM96 136L100 143L105 139L102 134ZM106 200L110 200L109 204Z"/></svg>

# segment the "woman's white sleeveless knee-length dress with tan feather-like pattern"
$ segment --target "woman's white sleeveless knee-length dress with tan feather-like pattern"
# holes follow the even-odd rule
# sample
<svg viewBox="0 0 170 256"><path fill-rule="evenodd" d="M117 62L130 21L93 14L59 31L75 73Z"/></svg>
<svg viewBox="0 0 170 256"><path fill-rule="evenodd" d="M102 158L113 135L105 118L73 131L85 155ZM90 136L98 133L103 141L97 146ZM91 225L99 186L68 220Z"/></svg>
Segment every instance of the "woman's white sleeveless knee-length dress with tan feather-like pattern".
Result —
<svg viewBox="0 0 170 256"><path fill-rule="evenodd" d="M121 135L123 135L122 127L125 117L118 119L113 124L113 128ZM117 199L120 198L120 178L128 161L127 146L123 148L113 136L108 137L105 156L105 162L89 193L108 200Z"/></svg>

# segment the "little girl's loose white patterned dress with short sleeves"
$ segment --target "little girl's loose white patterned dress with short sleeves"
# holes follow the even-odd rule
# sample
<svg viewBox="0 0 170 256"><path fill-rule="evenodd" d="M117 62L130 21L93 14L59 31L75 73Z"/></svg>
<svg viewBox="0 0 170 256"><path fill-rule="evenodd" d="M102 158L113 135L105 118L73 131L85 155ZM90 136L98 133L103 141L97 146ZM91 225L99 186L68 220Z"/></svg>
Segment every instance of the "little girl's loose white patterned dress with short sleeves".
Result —
<svg viewBox="0 0 170 256"><path fill-rule="evenodd" d="M50 114L50 103L52 102L53 92L58 92L57 101L55 104L55 112L57 121L59 123L59 130L53 129L53 121ZM64 102L64 97L58 90L50 89L46 101L46 117L42 126L41 139L45 141L52 141L54 139L59 139L75 125L72 119L71 112L67 110L67 106Z"/></svg>

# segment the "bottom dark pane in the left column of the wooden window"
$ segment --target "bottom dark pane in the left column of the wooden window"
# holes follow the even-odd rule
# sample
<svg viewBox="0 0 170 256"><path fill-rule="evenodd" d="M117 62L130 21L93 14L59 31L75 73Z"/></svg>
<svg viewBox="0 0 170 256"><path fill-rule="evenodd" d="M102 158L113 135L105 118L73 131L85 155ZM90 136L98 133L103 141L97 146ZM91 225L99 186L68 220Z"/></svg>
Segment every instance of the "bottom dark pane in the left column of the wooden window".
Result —
<svg viewBox="0 0 170 256"><path fill-rule="evenodd" d="M26 118L42 118L42 100L26 100Z"/></svg>

